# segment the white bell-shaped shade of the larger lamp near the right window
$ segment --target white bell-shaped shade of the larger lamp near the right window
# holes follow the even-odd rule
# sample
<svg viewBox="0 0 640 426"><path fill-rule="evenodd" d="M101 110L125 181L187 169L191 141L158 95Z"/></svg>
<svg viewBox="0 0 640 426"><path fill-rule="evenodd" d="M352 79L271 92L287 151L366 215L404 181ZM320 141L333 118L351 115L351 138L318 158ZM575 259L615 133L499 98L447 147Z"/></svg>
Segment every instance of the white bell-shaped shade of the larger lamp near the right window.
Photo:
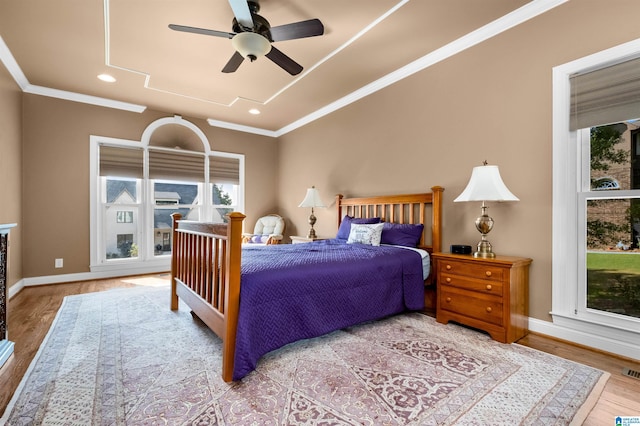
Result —
<svg viewBox="0 0 640 426"><path fill-rule="evenodd" d="M478 166L471 172L467 187L458 198L459 201L520 201L502 181L498 166Z"/></svg>

